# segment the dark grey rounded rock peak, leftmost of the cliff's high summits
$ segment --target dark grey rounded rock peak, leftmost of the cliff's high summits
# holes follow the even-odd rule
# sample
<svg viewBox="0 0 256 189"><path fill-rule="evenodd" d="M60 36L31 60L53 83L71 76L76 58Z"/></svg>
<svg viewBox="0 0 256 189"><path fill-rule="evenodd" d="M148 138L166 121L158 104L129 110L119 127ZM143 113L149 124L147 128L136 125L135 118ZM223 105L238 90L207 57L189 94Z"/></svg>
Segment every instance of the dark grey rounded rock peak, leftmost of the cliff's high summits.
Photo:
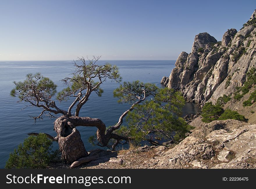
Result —
<svg viewBox="0 0 256 189"><path fill-rule="evenodd" d="M199 33L198 35L195 36L195 40L192 45L191 52L196 52L199 48L205 48L206 44L217 43L217 42L218 41L207 32Z"/></svg>

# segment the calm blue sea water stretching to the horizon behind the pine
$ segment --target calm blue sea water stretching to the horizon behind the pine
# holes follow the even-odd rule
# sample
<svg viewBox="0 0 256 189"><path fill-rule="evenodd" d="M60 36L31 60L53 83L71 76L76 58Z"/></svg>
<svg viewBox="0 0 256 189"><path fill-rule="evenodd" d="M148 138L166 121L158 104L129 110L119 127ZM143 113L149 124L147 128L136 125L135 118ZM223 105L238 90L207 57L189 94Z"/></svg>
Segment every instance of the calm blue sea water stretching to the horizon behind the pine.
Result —
<svg viewBox="0 0 256 189"><path fill-rule="evenodd" d="M143 82L155 83L162 87L160 81L163 76L169 76L174 68L175 61L107 61L115 64L120 69L123 81L141 80ZM53 122L47 117L43 120L34 121L28 115L39 115L39 108L21 109L26 103L17 103L17 98L11 97L10 90L14 88L13 81L23 81L28 73L40 72L44 76L51 78L57 85L57 90L63 89L61 79L72 73L73 61L19 61L19 62L0 62L0 168L5 166L9 153L22 143L24 138L31 132L45 132L56 136L53 131ZM106 61L99 61L98 64L104 64ZM113 90L119 86L118 83L107 81L102 85L104 93L102 97L95 94L90 96L80 111L80 116L88 116L101 119L106 126L118 122L120 115L129 108L128 104L118 104L117 99L113 97ZM71 101L70 101L71 102ZM56 104L62 109L69 107L70 102L58 102ZM183 114L191 114L199 109L193 104L186 104ZM88 137L95 135L96 127L78 127L81 138L86 150L97 148L88 143ZM58 145L55 143L54 148Z"/></svg>

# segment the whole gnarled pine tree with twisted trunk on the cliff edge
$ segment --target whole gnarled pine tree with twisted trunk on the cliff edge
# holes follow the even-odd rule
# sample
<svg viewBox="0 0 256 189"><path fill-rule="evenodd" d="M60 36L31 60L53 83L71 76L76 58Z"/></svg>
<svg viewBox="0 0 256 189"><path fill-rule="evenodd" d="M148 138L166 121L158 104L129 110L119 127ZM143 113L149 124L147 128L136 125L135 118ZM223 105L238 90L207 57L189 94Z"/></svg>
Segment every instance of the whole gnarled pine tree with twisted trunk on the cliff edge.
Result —
<svg viewBox="0 0 256 189"><path fill-rule="evenodd" d="M120 143L122 140L132 140L131 135L124 135L118 133L123 118L132 110L136 110L135 114L141 115L141 108L144 108L144 113L148 112L147 106L154 107L154 113L159 112L160 109L169 111L169 114L163 112L163 117L157 125L157 119L154 117L154 121L150 123L147 121L147 128L158 128L157 133L164 133L164 126L168 124L174 124L175 120L179 120L179 112L184 104L183 98L179 93L170 91L170 89L159 89L154 84L136 82L124 82L118 89L114 91L114 96L119 98L120 103L129 103L131 107L121 114L117 124L106 128L106 125L102 120L97 118L80 117L79 112L81 107L88 101L88 98L92 92L95 92L99 97L102 95L103 90L100 85L106 80L112 80L115 82L121 82L121 77L117 66L106 63L105 65L97 65L97 61L100 57L94 57L90 60L85 60L83 57L78 58L77 62L74 61L74 72L72 77L64 78L62 81L67 86L65 89L57 93L56 99L63 101L73 98L74 101L70 104L68 110L60 109L56 106L52 97L56 94L57 85L47 77L42 76L40 73L27 74L26 79L23 82L14 82L16 87L10 92L11 96L18 97L20 102L28 102L29 106L39 107L42 109L38 116L32 117L33 119L42 119L43 115L47 115L50 118L56 118L56 114L62 114L61 117L56 118L54 122L54 130L57 133L56 137L46 134L51 140L57 141L60 147L62 158L65 163L72 163L74 161L88 161L85 157L88 153L81 140L80 133L76 129L77 126L95 126L97 127L96 137L97 141L102 146L109 146L109 143L113 142L112 147ZM81 63L81 64L79 64ZM97 81L96 81L97 80ZM146 99L153 99L154 101L147 102L141 107L139 104L145 102ZM72 109L75 107L75 115L72 115ZM161 108L160 108L161 107ZM100 108L100 107L99 107ZM134 115L134 114L133 114ZM168 116L171 116L172 121L165 122ZM134 118L135 119L135 118ZM139 117L136 118L140 119ZM140 122L140 121L139 121ZM160 127L159 127L160 126ZM178 126L176 124L176 126ZM130 125L129 128L132 126ZM187 132L188 128L182 124L182 129ZM142 128L137 124L136 128ZM160 131L162 130L162 131ZM169 127L168 136L171 138L172 132L177 132ZM141 129L134 131L135 133L147 132L149 129ZM150 130L150 132L153 132ZM29 133L29 135L38 135L38 133ZM82 160L81 160L81 159ZM79 160L80 159L80 160Z"/></svg>

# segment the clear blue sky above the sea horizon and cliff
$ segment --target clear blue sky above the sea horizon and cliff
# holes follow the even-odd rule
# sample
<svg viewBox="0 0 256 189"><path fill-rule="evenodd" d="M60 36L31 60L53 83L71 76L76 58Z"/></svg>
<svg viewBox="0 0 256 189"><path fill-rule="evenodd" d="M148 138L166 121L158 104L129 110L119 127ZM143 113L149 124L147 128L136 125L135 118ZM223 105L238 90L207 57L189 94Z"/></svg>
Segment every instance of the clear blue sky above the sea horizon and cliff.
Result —
<svg viewBox="0 0 256 189"><path fill-rule="evenodd" d="M256 1L1 0L0 60L176 60L208 32L218 41Z"/></svg>

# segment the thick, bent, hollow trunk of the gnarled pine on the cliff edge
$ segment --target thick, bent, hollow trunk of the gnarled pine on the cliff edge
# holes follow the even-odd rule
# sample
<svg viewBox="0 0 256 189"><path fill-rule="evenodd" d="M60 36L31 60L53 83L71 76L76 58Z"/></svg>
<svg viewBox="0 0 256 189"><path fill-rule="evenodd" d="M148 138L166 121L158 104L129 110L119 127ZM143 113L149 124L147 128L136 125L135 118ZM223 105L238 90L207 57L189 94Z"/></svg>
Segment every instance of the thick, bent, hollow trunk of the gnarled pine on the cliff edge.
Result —
<svg viewBox="0 0 256 189"><path fill-rule="evenodd" d="M88 156L88 153L84 148L83 141L81 140L80 133L76 129L77 126L97 127L97 140L102 144L102 146L107 146L111 138L116 139L117 142L120 140L128 140L126 137L112 133L114 130L119 128L119 124L118 126L113 126L114 128L110 127L106 131L106 125L100 119L61 116L54 122L54 129L57 133L57 137L55 137L55 139L59 143L62 157L67 164L71 164L82 157ZM115 143L113 148L115 148L116 145L117 144Z"/></svg>

